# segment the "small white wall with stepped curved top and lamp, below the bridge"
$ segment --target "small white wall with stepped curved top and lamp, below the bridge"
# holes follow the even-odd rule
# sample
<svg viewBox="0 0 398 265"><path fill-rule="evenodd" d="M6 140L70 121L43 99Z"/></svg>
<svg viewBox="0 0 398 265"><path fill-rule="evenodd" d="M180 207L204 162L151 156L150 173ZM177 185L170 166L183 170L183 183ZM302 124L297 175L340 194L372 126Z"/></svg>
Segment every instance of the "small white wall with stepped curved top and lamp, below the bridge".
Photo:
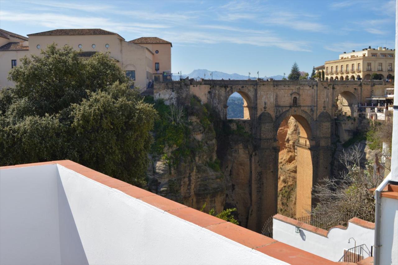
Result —
<svg viewBox="0 0 398 265"><path fill-rule="evenodd" d="M301 228L300 233L296 233L295 226L273 219L273 239L331 261L339 261L344 254L344 249L354 247L352 239L348 243L351 237L357 241L356 245L366 244L370 251L375 238L375 230L349 223L346 230L332 228L326 238ZM368 253L364 254L365 258L369 257Z"/></svg>

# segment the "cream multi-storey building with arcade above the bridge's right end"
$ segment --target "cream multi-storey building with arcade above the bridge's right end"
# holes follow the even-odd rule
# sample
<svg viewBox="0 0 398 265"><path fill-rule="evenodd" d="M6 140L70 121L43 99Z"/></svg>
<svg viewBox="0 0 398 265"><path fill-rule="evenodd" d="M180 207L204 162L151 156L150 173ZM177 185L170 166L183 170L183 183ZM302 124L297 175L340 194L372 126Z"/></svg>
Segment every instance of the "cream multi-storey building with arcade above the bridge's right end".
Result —
<svg viewBox="0 0 398 265"><path fill-rule="evenodd" d="M339 55L338 60L326 61L325 81L328 80L370 80L391 79L394 75L395 49L371 46L361 51L352 51ZM375 76L375 75L373 75Z"/></svg>

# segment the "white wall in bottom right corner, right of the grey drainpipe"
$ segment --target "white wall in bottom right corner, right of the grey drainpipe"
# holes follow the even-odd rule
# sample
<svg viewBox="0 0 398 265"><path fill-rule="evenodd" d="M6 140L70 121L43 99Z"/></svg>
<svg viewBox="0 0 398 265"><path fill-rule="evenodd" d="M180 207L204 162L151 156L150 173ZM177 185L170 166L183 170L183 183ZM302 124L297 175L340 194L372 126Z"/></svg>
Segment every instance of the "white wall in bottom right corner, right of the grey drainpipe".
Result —
<svg viewBox="0 0 398 265"><path fill-rule="evenodd" d="M398 264L398 200L381 197L380 264Z"/></svg>

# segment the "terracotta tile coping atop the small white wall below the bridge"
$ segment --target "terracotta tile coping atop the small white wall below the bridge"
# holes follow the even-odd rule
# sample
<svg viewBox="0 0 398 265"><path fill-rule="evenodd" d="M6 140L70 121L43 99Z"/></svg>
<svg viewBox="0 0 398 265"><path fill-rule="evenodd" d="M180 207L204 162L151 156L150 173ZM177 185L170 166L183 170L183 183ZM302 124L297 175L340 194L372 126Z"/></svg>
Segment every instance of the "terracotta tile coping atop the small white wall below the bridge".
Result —
<svg viewBox="0 0 398 265"><path fill-rule="evenodd" d="M329 228L329 230L324 230L322 228L318 228L316 226L311 226L309 224L300 222L298 220L289 218L287 216L283 216L281 214L275 214L273 216L273 218L276 220L285 222L287 224L291 224L292 226L297 226L297 227L302 228L303 230L306 230L308 232L312 232L312 233L318 234L320 236L324 236L326 238L328 237L330 230L332 230L334 228L339 228L339 229L343 229L343 230L347 229L347 227L345 227L345 226L333 226L333 227ZM348 223L356 224L358 226L362 226L363 228L375 229L375 223L368 222L368 221L359 219L357 217L351 218L350 220L348 220Z"/></svg>

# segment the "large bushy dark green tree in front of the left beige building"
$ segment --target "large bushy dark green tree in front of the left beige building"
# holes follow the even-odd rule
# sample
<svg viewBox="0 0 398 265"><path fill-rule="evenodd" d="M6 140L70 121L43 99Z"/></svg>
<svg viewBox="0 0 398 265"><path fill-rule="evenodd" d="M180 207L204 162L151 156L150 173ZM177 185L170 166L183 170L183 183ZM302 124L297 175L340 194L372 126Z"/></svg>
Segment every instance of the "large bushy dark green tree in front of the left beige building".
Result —
<svg viewBox="0 0 398 265"><path fill-rule="evenodd" d="M82 59L49 45L9 73L0 91L0 165L71 159L144 185L156 110L108 54Z"/></svg>

